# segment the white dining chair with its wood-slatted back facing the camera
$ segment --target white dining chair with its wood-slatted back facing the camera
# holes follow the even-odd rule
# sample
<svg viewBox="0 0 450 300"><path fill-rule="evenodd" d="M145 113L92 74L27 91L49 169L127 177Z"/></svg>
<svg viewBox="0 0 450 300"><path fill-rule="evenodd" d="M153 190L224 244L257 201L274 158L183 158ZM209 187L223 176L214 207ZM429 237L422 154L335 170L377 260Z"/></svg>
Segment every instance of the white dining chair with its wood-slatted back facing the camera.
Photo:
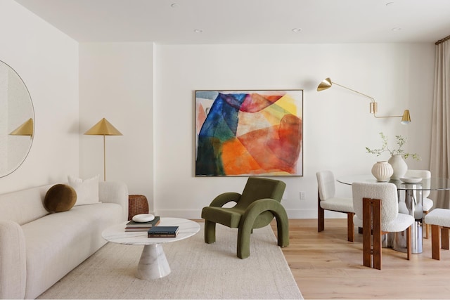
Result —
<svg viewBox="0 0 450 300"><path fill-rule="evenodd" d="M363 228L363 264L381 270L381 235L406 230L407 259L411 256L414 217L399 213L394 183L352 184L354 223Z"/></svg>

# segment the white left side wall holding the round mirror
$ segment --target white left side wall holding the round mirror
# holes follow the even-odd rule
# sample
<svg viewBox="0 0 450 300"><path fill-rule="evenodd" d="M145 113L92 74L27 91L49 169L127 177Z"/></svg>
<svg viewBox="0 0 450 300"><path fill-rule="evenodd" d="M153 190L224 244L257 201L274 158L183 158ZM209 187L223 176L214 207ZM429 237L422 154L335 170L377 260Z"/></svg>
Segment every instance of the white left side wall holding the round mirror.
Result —
<svg viewBox="0 0 450 300"><path fill-rule="evenodd" d="M0 1L0 60L18 72L34 105L25 162L0 178L0 193L78 175L78 44L12 0Z"/></svg>

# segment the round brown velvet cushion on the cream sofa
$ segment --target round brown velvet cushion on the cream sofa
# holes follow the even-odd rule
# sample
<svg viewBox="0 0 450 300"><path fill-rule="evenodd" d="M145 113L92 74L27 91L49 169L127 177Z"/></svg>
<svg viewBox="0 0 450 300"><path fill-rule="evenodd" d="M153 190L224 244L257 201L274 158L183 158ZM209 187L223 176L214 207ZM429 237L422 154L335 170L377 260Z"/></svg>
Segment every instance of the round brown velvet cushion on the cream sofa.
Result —
<svg viewBox="0 0 450 300"><path fill-rule="evenodd" d="M53 185L44 198L44 207L50 212L70 210L77 202L77 192L66 184Z"/></svg>

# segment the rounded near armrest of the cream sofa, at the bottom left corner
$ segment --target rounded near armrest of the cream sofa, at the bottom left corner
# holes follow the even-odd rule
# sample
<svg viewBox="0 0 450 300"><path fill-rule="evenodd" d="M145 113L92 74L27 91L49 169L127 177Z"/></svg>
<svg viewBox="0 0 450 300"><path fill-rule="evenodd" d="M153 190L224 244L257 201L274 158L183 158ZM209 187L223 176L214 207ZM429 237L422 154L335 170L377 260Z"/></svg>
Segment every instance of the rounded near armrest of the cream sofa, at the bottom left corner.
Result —
<svg viewBox="0 0 450 300"><path fill-rule="evenodd" d="M26 280L23 230L13 221L0 221L0 299L24 299Z"/></svg>

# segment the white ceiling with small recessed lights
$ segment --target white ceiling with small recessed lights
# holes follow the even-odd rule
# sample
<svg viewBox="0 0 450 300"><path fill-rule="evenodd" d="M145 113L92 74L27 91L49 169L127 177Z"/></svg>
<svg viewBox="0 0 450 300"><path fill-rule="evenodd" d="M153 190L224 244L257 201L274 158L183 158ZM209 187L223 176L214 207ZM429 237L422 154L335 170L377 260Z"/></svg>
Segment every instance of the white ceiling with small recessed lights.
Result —
<svg viewBox="0 0 450 300"><path fill-rule="evenodd" d="M15 1L77 41L434 43L450 35L450 0Z"/></svg>

